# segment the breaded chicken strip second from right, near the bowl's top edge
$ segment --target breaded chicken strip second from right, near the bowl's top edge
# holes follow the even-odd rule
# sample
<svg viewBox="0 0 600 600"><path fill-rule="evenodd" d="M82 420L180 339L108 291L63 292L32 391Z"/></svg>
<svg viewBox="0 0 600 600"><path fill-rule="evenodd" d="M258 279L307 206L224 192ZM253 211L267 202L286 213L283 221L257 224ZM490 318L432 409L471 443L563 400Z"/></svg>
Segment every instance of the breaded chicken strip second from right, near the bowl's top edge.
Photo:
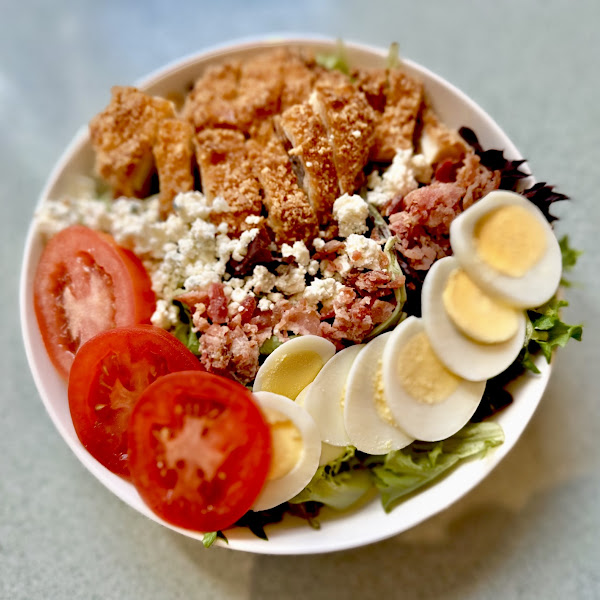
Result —
<svg viewBox="0 0 600 600"><path fill-rule="evenodd" d="M400 69L387 71L385 108L377 118L371 159L391 162L398 150L413 148L423 84Z"/></svg>

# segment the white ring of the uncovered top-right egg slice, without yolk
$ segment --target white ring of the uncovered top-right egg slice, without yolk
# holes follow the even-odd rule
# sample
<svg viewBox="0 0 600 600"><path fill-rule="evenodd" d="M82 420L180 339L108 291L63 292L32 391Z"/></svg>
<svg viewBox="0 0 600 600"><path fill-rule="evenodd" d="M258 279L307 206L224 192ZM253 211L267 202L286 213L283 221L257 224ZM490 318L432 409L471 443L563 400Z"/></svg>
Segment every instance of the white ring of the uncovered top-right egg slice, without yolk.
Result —
<svg viewBox="0 0 600 600"><path fill-rule="evenodd" d="M488 213L503 206L516 205L529 211L546 234L546 250L542 258L523 277L499 273L484 262L477 252L474 230ZM490 192L485 198L456 217L450 225L450 244L454 256L467 275L481 289L506 304L518 308L541 306L556 293L562 274L558 240L542 211L520 194L504 190Z"/></svg>

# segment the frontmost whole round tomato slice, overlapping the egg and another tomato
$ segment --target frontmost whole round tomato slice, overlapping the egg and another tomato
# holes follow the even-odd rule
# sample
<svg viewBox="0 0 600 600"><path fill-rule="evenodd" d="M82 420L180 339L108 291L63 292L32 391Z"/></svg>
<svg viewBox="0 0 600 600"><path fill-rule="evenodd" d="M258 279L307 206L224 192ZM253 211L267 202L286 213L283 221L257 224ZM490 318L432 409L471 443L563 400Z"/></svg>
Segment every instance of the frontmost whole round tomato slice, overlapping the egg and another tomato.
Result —
<svg viewBox="0 0 600 600"><path fill-rule="evenodd" d="M132 482L173 525L196 531L230 527L252 507L270 462L269 428L252 395L219 375L166 375L133 409Z"/></svg>

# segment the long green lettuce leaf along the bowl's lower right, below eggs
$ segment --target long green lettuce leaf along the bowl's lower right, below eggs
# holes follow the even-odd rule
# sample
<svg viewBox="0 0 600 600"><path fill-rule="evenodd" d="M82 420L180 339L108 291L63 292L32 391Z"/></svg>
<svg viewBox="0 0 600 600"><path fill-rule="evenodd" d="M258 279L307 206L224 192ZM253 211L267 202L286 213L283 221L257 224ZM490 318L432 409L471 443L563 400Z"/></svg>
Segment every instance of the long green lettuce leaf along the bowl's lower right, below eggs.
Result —
<svg viewBox="0 0 600 600"><path fill-rule="evenodd" d="M367 459L381 502L390 512L412 492L428 485L466 458L482 457L504 442L497 423L469 423L441 442L413 442L402 450Z"/></svg>

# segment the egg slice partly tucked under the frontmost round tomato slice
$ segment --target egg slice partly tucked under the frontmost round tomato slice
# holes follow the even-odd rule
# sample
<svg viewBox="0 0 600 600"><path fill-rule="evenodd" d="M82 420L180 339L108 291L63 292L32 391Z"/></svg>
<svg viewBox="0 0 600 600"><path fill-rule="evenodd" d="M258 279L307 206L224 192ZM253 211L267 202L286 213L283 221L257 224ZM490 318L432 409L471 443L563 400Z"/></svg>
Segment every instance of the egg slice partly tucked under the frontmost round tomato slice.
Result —
<svg viewBox="0 0 600 600"><path fill-rule="evenodd" d="M271 466L252 510L267 510L301 492L319 467L321 438L312 417L293 400L254 394L271 430Z"/></svg>

